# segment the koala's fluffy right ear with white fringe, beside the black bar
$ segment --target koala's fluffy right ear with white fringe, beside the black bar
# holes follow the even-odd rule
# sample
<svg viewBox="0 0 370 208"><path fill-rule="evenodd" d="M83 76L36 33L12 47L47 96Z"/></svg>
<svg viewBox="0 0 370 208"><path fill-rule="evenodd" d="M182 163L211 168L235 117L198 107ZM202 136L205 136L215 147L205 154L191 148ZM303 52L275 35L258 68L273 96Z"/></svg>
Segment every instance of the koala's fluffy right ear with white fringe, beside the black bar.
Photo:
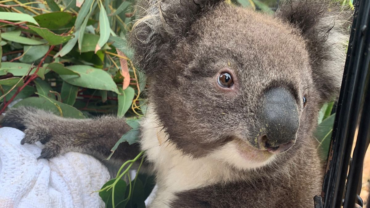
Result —
<svg viewBox="0 0 370 208"><path fill-rule="evenodd" d="M339 96L353 12L332 0L289 0L276 15L306 40L322 102Z"/></svg>

